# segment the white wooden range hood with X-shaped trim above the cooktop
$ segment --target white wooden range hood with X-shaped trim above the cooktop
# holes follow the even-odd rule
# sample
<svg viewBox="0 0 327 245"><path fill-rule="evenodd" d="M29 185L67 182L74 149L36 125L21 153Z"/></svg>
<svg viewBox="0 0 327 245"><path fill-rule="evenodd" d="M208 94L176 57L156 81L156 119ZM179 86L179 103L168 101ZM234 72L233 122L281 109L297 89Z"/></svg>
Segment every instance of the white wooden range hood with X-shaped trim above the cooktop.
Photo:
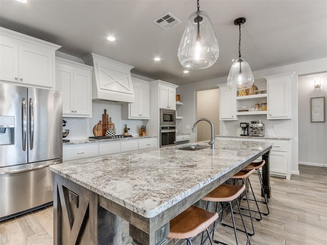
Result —
<svg viewBox="0 0 327 245"><path fill-rule="evenodd" d="M130 70L133 66L90 53L83 58L94 66L92 73L92 99L134 103L134 89Z"/></svg>

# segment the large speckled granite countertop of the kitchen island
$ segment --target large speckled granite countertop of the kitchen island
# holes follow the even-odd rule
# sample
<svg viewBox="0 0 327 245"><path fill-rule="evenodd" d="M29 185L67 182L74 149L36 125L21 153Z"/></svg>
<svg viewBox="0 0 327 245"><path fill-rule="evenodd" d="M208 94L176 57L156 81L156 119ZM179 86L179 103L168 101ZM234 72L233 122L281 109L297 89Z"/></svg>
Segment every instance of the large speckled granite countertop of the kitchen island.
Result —
<svg viewBox="0 0 327 245"><path fill-rule="evenodd" d="M216 140L215 150L178 150L185 145L190 144L66 161L50 169L133 212L154 217L272 147L268 142Z"/></svg>

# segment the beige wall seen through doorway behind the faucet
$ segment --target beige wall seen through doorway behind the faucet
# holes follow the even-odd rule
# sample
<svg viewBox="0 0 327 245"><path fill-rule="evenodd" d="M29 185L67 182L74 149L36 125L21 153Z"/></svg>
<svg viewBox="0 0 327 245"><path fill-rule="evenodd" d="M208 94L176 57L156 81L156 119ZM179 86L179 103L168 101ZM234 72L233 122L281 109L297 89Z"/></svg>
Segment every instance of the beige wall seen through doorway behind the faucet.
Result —
<svg viewBox="0 0 327 245"><path fill-rule="evenodd" d="M214 135L219 134L219 89L197 91L197 119L204 117L214 124ZM206 121L197 126L197 141L211 138L211 128Z"/></svg>

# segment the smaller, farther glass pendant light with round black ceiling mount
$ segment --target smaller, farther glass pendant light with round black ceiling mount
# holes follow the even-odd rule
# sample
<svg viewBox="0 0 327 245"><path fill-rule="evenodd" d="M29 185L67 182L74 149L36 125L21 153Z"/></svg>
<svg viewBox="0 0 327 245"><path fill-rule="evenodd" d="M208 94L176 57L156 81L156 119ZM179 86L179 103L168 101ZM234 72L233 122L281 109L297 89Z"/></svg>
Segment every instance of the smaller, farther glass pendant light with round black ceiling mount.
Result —
<svg viewBox="0 0 327 245"><path fill-rule="evenodd" d="M234 24L239 26L239 58L233 59L227 77L227 85L231 89L248 89L252 87L254 83L253 74L249 63L244 57L241 57L241 24L245 23L245 18L237 18L234 20Z"/></svg>

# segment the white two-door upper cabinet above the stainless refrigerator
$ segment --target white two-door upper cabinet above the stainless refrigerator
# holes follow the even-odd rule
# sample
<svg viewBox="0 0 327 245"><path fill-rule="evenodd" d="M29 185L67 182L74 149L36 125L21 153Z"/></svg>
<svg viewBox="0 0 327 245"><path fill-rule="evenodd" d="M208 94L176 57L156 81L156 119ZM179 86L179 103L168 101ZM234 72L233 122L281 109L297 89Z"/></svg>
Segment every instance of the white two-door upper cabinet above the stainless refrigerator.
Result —
<svg viewBox="0 0 327 245"><path fill-rule="evenodd" d="M53 88L59 47L0 28L0 80Z"/></svg>

